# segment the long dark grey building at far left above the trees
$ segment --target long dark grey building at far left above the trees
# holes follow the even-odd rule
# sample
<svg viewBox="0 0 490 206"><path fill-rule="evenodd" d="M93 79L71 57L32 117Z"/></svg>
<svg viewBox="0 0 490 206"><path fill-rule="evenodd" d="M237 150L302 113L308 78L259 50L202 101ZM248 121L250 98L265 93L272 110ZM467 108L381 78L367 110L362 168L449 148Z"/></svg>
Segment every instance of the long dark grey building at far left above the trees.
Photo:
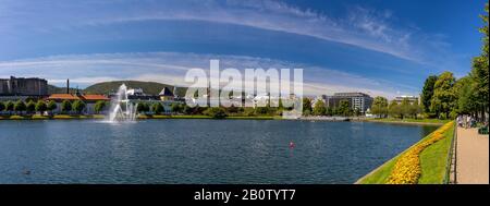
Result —
<svg viewBox="0 0 490 206"><path fill-rule="evenodd" d="M48 81L44 78L0 78L1 96L47 96Z"/></svg>

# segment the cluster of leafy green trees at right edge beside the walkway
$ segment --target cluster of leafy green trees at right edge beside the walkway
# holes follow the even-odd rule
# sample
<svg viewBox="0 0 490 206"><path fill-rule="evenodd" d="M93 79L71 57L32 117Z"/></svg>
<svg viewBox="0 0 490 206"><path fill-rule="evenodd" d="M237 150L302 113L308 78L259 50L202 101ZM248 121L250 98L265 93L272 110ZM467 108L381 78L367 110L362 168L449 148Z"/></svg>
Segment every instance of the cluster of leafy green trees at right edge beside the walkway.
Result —
<svg viewBox="0 0 490 206"><path fill-rule="evenodd" d="M480 15L485 25L479 29L482 37L481 54L473 59L471 71L456 80L451 72L427 77L421 104L429 117L446 119L457 114L473 114L486 121L489 112L489 36L488 3L486 14Z"/></svg>

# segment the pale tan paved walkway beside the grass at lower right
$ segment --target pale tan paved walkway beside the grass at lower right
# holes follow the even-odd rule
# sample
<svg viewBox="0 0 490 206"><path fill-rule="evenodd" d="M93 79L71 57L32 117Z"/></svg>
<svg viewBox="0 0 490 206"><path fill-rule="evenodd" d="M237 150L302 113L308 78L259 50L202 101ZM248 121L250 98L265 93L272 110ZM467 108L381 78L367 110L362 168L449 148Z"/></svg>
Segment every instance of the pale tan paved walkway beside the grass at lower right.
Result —
<svg viewBox="0 0 490 206"><path fill-rule="evenodd" d="M458 184L489 183L488 135L477 129L457 128L456 181Z"/></svg>

